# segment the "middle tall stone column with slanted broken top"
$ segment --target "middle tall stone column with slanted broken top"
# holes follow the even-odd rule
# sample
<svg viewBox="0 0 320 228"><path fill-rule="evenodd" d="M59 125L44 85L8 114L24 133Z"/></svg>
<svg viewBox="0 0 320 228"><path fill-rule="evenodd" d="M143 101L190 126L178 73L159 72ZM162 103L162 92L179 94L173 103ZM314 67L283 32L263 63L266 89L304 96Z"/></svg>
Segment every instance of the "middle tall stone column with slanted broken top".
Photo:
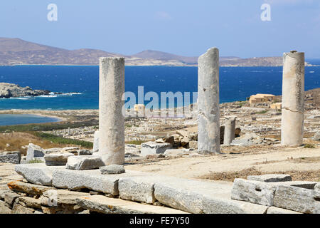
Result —
<svg viewBox="0 0 320 228"><path fill-rule="evenodd" d="M218 48L198 59L198 153L220 153Z"/></svg>

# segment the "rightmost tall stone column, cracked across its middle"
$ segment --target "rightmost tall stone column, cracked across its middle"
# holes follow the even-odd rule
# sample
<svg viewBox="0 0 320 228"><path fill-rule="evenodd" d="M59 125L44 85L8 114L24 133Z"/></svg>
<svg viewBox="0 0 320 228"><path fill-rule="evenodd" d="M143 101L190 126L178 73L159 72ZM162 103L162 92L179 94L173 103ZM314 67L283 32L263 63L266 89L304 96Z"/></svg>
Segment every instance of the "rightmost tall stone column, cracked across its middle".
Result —
<svg viewBox="0 0 320 228"><path fill-rule="evenodd" d="M281 144L302 145L304 134L304 53L283 56Z"/></svg>

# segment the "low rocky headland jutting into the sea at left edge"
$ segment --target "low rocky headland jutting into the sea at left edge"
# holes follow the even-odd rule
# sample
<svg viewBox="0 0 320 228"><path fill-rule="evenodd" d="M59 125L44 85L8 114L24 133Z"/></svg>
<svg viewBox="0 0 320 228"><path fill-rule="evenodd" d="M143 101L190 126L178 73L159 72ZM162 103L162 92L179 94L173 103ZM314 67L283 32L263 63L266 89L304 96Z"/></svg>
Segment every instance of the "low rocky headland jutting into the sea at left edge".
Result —
<svg viewBox="0 0 320 228"><path fill-rule="evenodd" d="M0 98L48 95L48 90L33 90L30 87L21 87L11 83L0 83Z"/></svg>

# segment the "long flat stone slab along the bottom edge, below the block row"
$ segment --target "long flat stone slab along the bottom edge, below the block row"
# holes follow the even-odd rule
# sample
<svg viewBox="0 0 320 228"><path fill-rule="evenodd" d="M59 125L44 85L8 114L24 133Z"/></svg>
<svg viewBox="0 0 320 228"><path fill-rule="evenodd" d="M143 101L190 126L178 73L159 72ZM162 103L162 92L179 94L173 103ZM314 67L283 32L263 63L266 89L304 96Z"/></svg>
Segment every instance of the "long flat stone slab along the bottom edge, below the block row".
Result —
<svg viewBox="0 0 320 228"><path fill-rule="evenodd" d="M123 199L113 199L102 195L79 197L77 204L90 211L105 214L186 214L177 209L145 205Z"/></svg>

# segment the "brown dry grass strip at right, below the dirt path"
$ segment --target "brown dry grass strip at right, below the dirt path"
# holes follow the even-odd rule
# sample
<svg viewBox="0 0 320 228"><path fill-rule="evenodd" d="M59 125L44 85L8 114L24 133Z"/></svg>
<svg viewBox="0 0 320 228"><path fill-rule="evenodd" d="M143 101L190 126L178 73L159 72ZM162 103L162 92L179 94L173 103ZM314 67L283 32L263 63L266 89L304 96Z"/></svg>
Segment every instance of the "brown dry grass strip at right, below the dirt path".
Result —
<svg viewBox="0 0 320 228"><path fill-rule="evenodd" d="M313 171L287 171L287 172L261 172L255 167L250 169L232 171L232 172L210 172L208 175L200 177L201 179L207 180L223 180L233 182L235 178L247 179L250 175L265 175L270 173L287 174L292 176L292 180L303 180L303 181L320 181L320 170Z"/></svg>

